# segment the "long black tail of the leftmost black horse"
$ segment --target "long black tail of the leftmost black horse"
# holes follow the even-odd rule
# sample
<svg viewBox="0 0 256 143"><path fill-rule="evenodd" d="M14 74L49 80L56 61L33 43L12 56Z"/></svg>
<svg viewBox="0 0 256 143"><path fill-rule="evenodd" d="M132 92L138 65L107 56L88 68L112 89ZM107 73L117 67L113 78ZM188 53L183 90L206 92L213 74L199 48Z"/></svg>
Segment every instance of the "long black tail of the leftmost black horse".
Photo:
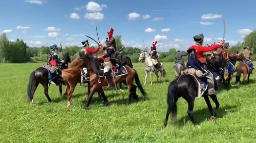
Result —
<svg viewBox="0 0 256 143"><path fill-rule="evenodd" d="M37 88L37 82L36 82L36 72L33 71L29 76L29 82L28 82L28 89L27 89L27 97L28 101L31 102L33 99L33 95L35 93L35 90Z"/></svg>

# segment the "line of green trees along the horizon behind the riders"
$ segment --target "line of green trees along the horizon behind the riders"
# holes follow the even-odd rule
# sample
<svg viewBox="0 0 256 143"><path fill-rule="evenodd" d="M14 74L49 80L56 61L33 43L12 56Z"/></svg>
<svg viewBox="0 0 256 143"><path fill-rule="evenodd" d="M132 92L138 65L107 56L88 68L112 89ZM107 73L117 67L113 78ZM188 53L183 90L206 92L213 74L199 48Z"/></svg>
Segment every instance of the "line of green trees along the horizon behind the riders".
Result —
<svg viewBox="0 0 256 143"><path fill-rule="evenodd" d="M123 55L129 56L132 62L138 62L139 55L142 51L140 48L125 47L122 44L122 36L117 35L115 37L116 48L118 51L122 51ZM254 49L256 53L256 31L249 34L244 39L244 43L238 43L237 45L230 48L230 52L236 53L236 51L242 51L243 46L249 46ZM92 47L93 48L93 47ZM71 59L79 56L79 51L82 47L70 46L63 48L63 53L69 53ZM146 48L148 49L148 48ZM149 51L148 51L149 52ZM50 47L42 46L41 48L33 48L27 46L23 40L17 39L16 41L8 41L6 34L3 33L0 36L0 62L1 63L25 63L25 62L46 62L48 56L51 53ZM62 54L59 56L62 59ZM159 53L159 60L161 62L174 62L175 54L177 53L175 48L170 48L168 52ZM187 57L184 57L185 61ZM252 56L253 60L256 60L256 56Z"/></svg>

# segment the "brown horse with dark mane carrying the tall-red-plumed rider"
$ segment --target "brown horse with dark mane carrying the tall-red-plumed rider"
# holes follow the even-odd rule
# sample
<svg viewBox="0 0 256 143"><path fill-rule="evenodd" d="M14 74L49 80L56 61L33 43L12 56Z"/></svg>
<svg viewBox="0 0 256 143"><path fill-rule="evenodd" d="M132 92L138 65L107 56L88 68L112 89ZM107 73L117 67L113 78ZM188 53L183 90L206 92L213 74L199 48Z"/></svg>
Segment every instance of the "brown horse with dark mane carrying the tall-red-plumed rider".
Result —
<svg viewBox="0 0 256 143"><path fill-rule="evenodd" d="M99 70L99 64L98 64L98 59L93 57L91 54L85 54L84 52L79 53L80 57L82 58L83 62L86 65L87 70L89 71L89 76L90 76L90 85L91 85L91 90L90 94L88 95L87 102L84 106L84 109L88 109L89 104L91 102L92 96L95 94L95 92L99 92L104 100L104 105L107 106L109 105L109 101L106 98L106 95L104 94L103 88L104 86L107 86L108 84L105 82L105 77L99 77L99 73L101 72ZM135 80L135 83L140 91L140 93L144 96L144 99L146 98L146 93L144 92L137 72L128 66L125 66L127 73L126 75L119 76L119 77L114 77L112 80L115 80L115 83L124 83L125 85L128 86L129 90L129 98L128 98L128 104L131 102L131 98L133 95L136 95L136 86L133 85L133 81ZM114 83L114 81L112 82Z"/></svg>

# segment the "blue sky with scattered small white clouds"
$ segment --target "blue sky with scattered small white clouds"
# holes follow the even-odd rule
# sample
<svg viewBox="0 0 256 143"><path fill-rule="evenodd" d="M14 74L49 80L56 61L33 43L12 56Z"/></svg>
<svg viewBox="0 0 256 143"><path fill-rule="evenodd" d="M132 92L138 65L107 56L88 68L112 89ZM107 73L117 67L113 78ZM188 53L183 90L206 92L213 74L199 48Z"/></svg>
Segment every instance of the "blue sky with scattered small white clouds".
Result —
<svg viewBox="0 0 256 143"><path fill-rule="evenodd" d="M0 32L31 47L81 46L84 36L100 40L113 28L126 46L187 49L203 33L208 44L223 36L231 45L256 29L256 0L0 0ZM4 12L3 12L4 11ZM91 44L93 42L89 40Z"/></svg>

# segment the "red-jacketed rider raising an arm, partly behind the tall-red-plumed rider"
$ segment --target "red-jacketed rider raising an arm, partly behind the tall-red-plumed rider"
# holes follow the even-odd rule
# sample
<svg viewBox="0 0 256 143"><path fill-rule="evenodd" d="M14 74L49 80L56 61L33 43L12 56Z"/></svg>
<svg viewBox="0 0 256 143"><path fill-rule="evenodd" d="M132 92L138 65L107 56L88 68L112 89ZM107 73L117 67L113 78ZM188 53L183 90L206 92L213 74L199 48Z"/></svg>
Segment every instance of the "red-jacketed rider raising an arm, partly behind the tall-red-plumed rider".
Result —
<svg viewBox="0 0 256 143"><path fill-rule="evenodd" d="M83 42L81 42L82 45L83 45L83 51L85 52L85 54L93 54L93 53L97 53L99 51L99 49L101 48L100 45L98 45L97 48L93 49L93 48L90 48L90 44L89 44L89 41L88 40L85 40ZM83 79L82 79L82 83L81 84L85 84L87 81L89 81L89 74L86 70L86 68L83 68L82 69L82 75L83 75Z"/></svg>

